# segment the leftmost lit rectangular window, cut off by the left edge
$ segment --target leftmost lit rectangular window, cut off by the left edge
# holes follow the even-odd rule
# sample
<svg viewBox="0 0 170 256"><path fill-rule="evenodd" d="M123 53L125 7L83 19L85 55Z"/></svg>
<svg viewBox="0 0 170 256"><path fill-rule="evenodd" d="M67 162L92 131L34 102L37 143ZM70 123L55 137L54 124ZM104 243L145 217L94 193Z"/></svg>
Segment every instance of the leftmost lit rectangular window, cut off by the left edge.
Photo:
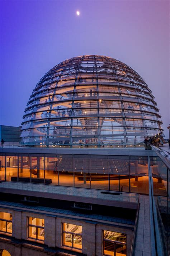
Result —
<svg viewBox="0 0 170 256"><path fill-rule="evenodd" d="M12 214L0 212L0 231L12 234Z"/></svg>

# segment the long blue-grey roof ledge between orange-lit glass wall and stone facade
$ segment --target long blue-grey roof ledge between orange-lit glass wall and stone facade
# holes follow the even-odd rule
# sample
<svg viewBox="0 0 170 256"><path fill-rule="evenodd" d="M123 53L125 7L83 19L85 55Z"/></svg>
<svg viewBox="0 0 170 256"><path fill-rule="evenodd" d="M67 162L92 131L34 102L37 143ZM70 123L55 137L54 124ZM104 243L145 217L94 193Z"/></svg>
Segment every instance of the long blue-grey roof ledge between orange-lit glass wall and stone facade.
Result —
<svg viewBox="0 0 170 256"><path fill-rule="evenodd" d="M53 185L1 182L1 193L137 209L139 194ZM104 193L103 193L104 192Z"/></svg>

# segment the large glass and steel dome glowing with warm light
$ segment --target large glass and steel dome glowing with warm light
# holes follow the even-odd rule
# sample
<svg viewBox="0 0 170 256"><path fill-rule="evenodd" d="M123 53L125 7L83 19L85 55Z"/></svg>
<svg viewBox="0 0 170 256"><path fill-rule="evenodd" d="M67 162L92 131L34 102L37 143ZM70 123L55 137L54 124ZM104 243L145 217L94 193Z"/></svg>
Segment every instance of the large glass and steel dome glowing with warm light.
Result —
<svg viewBox="0 0 170 256"><path fill-rule="evenodd" d="M33 90L22 143L137 145L163 131L156 104L148 85L126 64L99 55L71 58L50 69Z"/></svg>

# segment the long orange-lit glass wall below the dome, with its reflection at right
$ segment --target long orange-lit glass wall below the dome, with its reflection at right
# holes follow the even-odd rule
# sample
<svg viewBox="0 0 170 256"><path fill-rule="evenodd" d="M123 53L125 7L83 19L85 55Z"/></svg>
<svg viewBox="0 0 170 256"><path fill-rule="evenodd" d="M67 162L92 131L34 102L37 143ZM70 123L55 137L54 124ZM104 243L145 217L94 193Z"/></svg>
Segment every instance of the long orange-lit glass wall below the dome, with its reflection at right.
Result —
<svg viewBox="0 0 170 256"><path fill-rule="evenodd" d="M91 188L148 194L147 157L31 154L1 156L0 180L19 181L77 188ZM8 166L7 167L7 163ZM156 194L163 195L167 187L163 173L158 177L160 164L151 161ZM163 166L160 168L163 170ZM160 172L159 172L160 173Z"/></svg>

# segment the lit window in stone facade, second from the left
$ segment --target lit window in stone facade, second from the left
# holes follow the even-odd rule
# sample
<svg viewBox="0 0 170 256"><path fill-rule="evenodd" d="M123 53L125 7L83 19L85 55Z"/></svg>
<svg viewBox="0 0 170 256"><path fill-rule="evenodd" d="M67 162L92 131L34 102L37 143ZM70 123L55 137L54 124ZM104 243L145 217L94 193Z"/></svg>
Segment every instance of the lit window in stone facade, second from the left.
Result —
<svg viewBox="0 0 170 256"><path fill-rule="evenodd" d="M28 237L44 241L44 219L29 217Z"/></svg>

